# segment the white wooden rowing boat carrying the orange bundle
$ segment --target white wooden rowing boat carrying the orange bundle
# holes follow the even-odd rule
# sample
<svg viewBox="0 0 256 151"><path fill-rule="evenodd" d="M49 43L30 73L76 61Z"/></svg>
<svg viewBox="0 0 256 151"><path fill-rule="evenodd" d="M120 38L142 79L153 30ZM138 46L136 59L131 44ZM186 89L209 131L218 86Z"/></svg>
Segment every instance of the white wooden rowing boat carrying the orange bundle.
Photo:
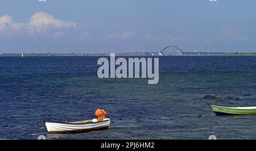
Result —
<svg viewBox="0 0 256 151"><path fill-rule="evenodd" d="M102 121L97 121L97 119L93 119L73 121L69 123L46 121L45 124L49 133L79 133L106 129L110 125L110 119L104 119Z"/></svg>

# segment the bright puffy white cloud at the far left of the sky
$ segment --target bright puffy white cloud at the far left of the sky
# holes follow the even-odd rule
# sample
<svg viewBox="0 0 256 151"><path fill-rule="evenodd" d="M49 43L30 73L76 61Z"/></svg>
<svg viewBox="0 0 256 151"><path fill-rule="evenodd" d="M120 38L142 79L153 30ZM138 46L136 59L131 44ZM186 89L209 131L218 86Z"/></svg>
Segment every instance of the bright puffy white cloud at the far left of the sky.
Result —
<svg viewBox="0 0 256 151"><path fill-rule="evenodd" d="M9 15L3 15L0 17L0 34L5 33L9 36L18 35L21 32L29 32L31 34L51 30L55 30L56 32L56 30L58 31L71 27L76 27L76 23L56 19L52 15L43 11L35 12L28 23L15 23ZM55 36L56 35L61 35L61 32L56 33Z"/></svg>

